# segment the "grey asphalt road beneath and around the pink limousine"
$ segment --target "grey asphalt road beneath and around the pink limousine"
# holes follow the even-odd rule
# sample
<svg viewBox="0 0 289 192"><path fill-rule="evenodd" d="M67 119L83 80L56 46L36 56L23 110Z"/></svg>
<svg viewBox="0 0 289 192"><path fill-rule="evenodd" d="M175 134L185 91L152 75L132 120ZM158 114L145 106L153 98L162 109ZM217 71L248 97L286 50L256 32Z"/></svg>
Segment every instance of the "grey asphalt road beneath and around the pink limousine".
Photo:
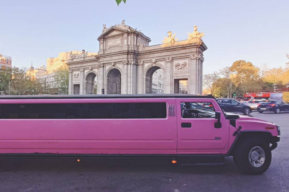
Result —
<svg viewBox="0 0 289 192"><path fill-rule="evenodd" d="M289 191L289 113L252 116L281 128L267 172L245 175L224 165L172 167L163 160L1 159L0 191Z"/></svg>

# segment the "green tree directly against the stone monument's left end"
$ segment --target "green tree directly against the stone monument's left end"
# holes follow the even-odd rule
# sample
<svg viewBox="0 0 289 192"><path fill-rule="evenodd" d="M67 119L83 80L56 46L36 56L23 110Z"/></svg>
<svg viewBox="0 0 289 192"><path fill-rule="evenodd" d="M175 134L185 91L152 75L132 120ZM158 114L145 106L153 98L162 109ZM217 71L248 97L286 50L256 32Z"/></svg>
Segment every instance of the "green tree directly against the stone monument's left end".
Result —
<svg viewBox="0 0 289 192"><path fill-rule="evenodd" d="M61 92L67 94L69 70L68 65L65 64L54 71L55 86L61 89Z"/></svg>

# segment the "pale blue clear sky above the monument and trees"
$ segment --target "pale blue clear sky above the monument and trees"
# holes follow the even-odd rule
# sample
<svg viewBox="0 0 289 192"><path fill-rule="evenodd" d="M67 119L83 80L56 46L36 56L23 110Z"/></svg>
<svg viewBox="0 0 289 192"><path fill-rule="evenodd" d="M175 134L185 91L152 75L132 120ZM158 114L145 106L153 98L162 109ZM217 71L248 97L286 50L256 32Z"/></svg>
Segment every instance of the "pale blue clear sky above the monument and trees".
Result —
<svg viewBox="0 0 289 192"><path fill-rule="evenodd" d="M185 40L197 25L208 49L204 74L231 66L236 60L256 66L284 67L289 60L288 0L0 0L0 53L12 65L46 64L59 52L98 52L98 36L107 27L126 20L162 44L168 31Z"/></svg>

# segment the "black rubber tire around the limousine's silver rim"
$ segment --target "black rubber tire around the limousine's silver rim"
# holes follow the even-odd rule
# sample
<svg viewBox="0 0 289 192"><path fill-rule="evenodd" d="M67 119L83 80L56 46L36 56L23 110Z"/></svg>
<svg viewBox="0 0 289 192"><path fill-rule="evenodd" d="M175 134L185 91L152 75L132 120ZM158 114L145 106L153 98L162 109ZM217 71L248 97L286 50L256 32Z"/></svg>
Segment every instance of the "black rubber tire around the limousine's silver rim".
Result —
<svg viewBox="0 0 289 192"><path fill-rule="evenodd" d="M265 152L265 160L260 167L254 167L249 161L250 150L256 146L261 147ZM244 138L235 146L233 159L236 167L243 173L260 175L264 173L271 164L272 154L269 148L269 142L258 137Z"/></svg>

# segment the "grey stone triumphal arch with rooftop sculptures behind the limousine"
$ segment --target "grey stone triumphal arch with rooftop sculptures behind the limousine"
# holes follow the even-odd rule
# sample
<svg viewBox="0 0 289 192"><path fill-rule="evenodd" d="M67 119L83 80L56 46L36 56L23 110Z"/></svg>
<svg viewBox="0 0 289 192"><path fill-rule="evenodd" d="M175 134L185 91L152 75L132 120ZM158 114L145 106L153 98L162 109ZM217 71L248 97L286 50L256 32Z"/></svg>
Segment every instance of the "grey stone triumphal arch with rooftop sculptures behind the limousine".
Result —
<svg viewBox="0 0 289 192"><path fill-rule="evenodd" d="M151 39L125 21L104 25L98 55L71 53L69 94L101 94L102 88L105 94L202 94L203 36L194 26L187 40L168 32L163 44L149 46Z"/></svg>

